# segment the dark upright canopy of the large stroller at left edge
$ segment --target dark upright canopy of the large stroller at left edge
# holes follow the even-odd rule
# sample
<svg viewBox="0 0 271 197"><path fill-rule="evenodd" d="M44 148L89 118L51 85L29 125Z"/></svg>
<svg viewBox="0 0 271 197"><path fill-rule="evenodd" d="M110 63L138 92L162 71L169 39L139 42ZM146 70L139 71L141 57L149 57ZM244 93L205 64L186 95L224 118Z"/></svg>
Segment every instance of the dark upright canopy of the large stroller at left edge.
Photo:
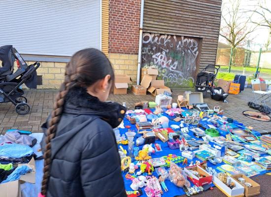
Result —
<svg viewBox="0 0 271 197"><path fill-rule="evenodd" d="M12 58L12 45L5 45L0 47L0 60L2 62L2 67L0 67L0 75L9 70L11 73L11 67L13 66L15 60Z"/></svg>

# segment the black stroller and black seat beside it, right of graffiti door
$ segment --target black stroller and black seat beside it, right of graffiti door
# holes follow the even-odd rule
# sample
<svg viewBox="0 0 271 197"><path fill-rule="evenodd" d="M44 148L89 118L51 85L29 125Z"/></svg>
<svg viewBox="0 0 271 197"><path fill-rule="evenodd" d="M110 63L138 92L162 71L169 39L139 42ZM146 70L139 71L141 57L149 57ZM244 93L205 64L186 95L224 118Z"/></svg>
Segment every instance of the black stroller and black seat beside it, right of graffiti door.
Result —
<svg viewBox="0 0 271 197"><path fill-rule="evenodd" d="M226 94L221 87L214 88L214 80L219 68L220 66L218 65L208 65L199 72L195 84L195 91L202 92L203 97L207 95L208 91L210 92L212 99L227 102L226 98L228 97L228 94ZM209 72L207 69L212 69L213 72Z"/></svg>

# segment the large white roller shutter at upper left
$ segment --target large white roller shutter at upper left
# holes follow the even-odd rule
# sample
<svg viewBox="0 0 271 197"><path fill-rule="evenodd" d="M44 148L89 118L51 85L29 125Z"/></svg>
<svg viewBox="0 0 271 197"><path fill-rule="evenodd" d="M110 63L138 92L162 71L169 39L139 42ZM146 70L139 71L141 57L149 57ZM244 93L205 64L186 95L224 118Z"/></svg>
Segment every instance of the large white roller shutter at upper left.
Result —
<svg viewBox="0 0 271 197"><path fill-rule="evenodd" d="M49 56L101 49L100 10L100 0L0 0L0 46Z"/></svg>

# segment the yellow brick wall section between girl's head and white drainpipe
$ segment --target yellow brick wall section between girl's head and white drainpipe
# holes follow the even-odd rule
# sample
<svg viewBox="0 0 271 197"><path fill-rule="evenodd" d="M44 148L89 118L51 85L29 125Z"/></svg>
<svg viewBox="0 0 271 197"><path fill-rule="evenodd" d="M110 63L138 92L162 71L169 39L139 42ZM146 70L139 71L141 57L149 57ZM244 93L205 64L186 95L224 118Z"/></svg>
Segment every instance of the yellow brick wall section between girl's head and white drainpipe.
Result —
<svg viewBox="0 0 271 197"><path fill-rule="evenodd" d="M137 55L109 53L108 58L114 67L115 74L127 74L131 76L133 84L137 76Z"/></svg>

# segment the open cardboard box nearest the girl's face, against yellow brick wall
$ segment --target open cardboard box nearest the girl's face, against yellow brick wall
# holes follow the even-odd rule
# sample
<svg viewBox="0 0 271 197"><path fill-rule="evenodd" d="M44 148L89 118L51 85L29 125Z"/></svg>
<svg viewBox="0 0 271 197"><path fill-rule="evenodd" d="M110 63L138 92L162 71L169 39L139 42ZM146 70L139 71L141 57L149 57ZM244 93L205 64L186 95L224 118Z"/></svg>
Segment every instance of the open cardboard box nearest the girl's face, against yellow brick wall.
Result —
<svg viewBox="0 0 271 197"><path fill-rule="evenodd" d="M126 95L128 83L132 81L131 77L126 74L115 75L114 95Z"/></svg>

